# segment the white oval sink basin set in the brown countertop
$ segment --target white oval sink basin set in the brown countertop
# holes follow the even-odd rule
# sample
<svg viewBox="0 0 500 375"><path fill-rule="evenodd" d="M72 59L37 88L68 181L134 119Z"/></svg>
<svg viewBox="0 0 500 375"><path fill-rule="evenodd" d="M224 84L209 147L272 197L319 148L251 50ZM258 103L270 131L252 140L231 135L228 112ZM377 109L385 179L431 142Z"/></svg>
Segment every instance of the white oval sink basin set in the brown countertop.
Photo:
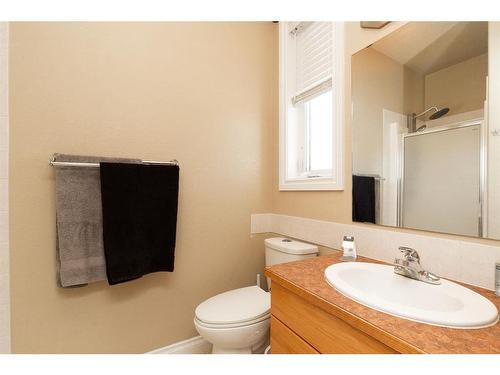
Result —
<svg viewBox="0 0 500 375"><path fill-rule="evenodd" d="M325 270L327 282L356 302L401 318L451 328L483 328L498 311L480 294L441 279L427 284L394 273L393 266L349 262Z"/></svg>

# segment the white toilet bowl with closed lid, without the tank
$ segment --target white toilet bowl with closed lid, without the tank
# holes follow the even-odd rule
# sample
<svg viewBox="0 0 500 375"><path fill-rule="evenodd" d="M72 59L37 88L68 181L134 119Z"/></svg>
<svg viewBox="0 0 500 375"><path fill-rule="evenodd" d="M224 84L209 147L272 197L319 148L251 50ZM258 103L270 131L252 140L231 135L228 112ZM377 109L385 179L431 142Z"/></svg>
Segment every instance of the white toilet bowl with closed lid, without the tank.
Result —
<svg viewBox="0 0 500 375"><path fill-rule="evenodd" d="M271 299L258 286L230 290L201 303L194 326L212 353L255 353L268 339Z"/></svg>

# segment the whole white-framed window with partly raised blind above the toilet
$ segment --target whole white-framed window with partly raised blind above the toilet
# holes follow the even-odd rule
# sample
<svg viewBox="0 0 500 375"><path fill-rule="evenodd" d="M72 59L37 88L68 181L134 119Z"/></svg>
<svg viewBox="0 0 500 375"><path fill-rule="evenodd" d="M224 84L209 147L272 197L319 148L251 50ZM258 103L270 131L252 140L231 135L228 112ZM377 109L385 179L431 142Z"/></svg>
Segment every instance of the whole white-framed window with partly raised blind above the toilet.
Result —
<svg viewBox="0 0 500 375"><path fill-rule="evenodd" d="M280 23L280 190L343 189L341 23Z"/></svg>

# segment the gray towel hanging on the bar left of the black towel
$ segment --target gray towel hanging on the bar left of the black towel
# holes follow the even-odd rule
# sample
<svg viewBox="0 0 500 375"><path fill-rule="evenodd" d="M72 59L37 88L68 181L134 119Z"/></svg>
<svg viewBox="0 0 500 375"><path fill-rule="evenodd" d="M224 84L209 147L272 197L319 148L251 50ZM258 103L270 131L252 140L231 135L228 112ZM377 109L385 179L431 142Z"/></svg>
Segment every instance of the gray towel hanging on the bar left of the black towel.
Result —
<svg viewBox="0 0 500 375"><path fill-rule="evenodd" d="M95 156L54 156L56 161L68 162L140 162ZM107 280L99 168L59 166L55 173L59 284L70 287Z"/></svg>

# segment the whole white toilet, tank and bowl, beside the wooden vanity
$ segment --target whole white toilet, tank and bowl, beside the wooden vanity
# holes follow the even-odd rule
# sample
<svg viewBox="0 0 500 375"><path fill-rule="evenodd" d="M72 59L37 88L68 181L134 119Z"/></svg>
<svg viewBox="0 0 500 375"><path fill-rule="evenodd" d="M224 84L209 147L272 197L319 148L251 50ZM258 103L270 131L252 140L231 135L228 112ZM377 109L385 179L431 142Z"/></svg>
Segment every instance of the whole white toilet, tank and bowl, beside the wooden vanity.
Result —
<svg viewBox="0 0 500 375"><path fill-rule="evenodd" d="M266 266L318 255L317 246L288 238L268 238L264 243ZM212 344L212 353L251 354L263 353L267 346L270 319L270 293L254 285L200 303L194 325L200 336Z"/></svg>

